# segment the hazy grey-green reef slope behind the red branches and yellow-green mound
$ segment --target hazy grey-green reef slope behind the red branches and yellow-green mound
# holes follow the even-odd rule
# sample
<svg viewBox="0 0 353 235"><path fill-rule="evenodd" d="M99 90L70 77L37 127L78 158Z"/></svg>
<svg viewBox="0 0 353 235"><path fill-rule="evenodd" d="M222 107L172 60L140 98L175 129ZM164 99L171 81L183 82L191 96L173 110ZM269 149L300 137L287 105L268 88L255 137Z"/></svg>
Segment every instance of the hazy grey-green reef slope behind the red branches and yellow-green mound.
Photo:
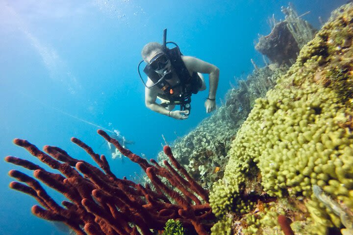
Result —
<svg viewBox="0 0 353 235"><path fill-rule="evenodd" d="M286 69L265 67L254 70L247 80L239 81L239 87L228 91L227 101L210 118L173 143L171 148L175 158L202 187L211 188L213 182L223 177L231 141L250 113L255 99L273 88ZM160 152L158 162L164 159L165 154Z"/></svg>

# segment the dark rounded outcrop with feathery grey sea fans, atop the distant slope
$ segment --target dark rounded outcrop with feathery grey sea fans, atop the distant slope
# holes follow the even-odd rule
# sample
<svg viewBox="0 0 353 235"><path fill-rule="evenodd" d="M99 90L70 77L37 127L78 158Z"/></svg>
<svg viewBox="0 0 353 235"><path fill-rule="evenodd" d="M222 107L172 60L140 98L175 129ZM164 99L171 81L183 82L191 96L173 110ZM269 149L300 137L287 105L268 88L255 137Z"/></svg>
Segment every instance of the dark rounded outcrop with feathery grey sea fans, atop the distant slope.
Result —
<svg viewBox="0 0 353 235"><path fill-rule="evenodd" d="M298 16L294 7L282 7L286 15L284 21L271 21L272 30L267 36L261 36L255 49L266 55L271 62L291 65L297 58L300 49L310 41L316 30Z"/></svg>

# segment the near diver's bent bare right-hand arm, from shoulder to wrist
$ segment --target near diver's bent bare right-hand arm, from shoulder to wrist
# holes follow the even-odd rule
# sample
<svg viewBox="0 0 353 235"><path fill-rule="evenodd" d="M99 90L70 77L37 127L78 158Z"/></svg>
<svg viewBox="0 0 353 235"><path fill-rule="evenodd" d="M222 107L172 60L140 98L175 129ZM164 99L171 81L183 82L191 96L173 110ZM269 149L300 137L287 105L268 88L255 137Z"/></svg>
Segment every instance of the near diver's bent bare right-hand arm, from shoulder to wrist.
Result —
<svg viewBox="0 0 353 235"><path fill-rule="evenodd" d="M215 99L219 80L218 67L192 56L183 56L182 59L189 71L209 74L208 98Z"/></svg>

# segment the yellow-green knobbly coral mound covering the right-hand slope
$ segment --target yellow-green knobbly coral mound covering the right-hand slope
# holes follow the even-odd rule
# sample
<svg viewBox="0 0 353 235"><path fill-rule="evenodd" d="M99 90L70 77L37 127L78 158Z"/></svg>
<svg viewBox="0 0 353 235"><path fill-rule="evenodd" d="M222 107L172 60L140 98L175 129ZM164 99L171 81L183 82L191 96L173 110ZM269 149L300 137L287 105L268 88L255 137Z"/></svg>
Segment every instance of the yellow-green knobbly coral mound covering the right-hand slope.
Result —
<svg viewBox="0 0 353 235"><path fill-rule="evenodd" d="M312 234L341 226L311 188L318 185L353 209L352 40L351 3L332 14L275 89L256 100L232 143L224 178L210 195L216 215L237 208L233 201L257 170L268 195L309 200L310 219L321 226Z"/></svg>

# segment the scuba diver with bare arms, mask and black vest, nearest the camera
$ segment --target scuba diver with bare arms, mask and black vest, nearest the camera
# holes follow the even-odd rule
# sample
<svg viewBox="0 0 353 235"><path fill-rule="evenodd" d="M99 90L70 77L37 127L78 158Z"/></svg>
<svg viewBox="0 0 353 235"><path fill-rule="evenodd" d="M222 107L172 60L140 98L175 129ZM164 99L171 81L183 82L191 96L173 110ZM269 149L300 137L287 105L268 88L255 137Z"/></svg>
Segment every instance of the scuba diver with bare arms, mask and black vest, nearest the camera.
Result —
<svg viewBox="0 0 353 235"><path fill-rule="evenodd" d="M191 94L197 94L206 89L202 73L209 74L208 97L204 103L206 113L216 108L216 91L219 80L219 69L205 61L192 56L184 56L179 47L173 42L166 42L164 29L163 45L148 43L141 51L143 61L138 65L138 72L145 85L146 107L154 112L175 119L186 119L191 110ZM174 44L169 49L166 45ZM145 83L140 73L140 65L147 65L143 70L148 78ZM161 103L156 103L156 99ZM174 110L180 105L180 111Z"/></svg>

